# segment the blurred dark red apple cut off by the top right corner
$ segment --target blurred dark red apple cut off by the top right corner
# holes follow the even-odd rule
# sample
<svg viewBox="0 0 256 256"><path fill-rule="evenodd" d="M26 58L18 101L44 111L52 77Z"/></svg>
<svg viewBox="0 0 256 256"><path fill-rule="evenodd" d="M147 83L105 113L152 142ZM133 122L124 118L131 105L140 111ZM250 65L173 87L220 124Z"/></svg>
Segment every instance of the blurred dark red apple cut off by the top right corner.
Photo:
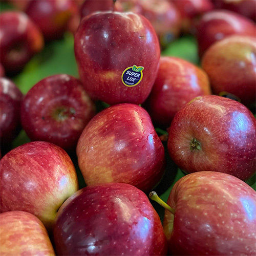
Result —
<svg viewBox="0 0 256 256"><path fill-rule="evenodd" d="M237 12L247 18L256 19L256 0L214 0L216 8Z"/></svg>

